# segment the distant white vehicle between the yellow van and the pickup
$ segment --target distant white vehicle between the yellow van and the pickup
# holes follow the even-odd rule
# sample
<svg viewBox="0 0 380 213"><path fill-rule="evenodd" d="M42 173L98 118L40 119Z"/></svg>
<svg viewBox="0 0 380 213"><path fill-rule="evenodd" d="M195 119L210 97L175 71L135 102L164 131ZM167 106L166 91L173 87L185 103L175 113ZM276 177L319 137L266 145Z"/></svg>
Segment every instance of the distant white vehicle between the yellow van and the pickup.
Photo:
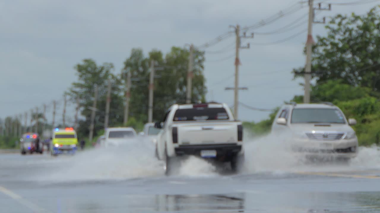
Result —
<svg viewBox="0 0 380 213"><path fill-rule="evenodd" d="M125 145L128 141L136 139L136 131L131 127L107 128L105 133L105 147Z"/></svg>

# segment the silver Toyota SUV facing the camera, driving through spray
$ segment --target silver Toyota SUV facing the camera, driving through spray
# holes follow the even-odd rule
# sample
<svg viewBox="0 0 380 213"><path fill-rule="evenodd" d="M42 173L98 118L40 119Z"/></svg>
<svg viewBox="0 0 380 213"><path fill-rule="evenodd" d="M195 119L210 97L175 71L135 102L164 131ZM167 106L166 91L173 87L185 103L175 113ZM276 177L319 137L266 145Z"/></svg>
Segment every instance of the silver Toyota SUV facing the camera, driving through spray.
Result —
<svg viewBox="0 0 380 213"><path fill-rule="evenodd" d="M293 103L279 110L272 134L290 139L295 152L349 159L358 152L358 138L350 127L355 124L332 103Z"/></svg>

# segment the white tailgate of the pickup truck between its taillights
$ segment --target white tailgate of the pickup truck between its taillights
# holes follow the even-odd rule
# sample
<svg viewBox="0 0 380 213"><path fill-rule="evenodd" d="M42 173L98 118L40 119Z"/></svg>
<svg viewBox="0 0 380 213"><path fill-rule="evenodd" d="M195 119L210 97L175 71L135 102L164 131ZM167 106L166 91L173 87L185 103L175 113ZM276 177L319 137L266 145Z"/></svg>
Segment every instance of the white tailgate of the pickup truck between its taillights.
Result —
<svg viewBox="0 0 380 213"><path fill-rule="evenodd" d="M237 123L181 124L177 127L177 136L179 145L236 143Z"/></svg>

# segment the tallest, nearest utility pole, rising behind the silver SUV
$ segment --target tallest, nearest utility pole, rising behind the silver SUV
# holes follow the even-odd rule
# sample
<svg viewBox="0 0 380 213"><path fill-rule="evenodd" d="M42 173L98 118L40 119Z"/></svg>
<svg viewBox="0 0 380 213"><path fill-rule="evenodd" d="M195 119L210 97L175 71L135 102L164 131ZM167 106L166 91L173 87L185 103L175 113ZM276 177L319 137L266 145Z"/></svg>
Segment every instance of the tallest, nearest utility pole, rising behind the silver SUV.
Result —
<svg viewBox="0 0 380 213"><path fill-rule="evenodd" d="M309 0L309 22L307 24L307 40L306 40L306 66L305 66L305 89L304 103L310 103L310 80L311 80L311 61L312 61L312 45L314 44L312 29L313 23L326 23L326 18L323 17L323 22L314 21L315 10L331 10L331 4L328 8L321 8L321 3L318 8L313 7L313 0Z"/></svg>

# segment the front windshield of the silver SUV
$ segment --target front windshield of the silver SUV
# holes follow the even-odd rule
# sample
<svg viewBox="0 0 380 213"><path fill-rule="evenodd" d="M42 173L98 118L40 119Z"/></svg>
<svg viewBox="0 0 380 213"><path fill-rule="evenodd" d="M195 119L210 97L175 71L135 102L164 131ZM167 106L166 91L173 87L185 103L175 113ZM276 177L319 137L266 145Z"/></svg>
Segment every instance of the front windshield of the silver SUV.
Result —
<svg viewBox="0 0 380 213"><path fill-rule="evenodd" d="M293 109L291 123L335 123L345 124L344 115L337 109L310 108Z"/></svg>

